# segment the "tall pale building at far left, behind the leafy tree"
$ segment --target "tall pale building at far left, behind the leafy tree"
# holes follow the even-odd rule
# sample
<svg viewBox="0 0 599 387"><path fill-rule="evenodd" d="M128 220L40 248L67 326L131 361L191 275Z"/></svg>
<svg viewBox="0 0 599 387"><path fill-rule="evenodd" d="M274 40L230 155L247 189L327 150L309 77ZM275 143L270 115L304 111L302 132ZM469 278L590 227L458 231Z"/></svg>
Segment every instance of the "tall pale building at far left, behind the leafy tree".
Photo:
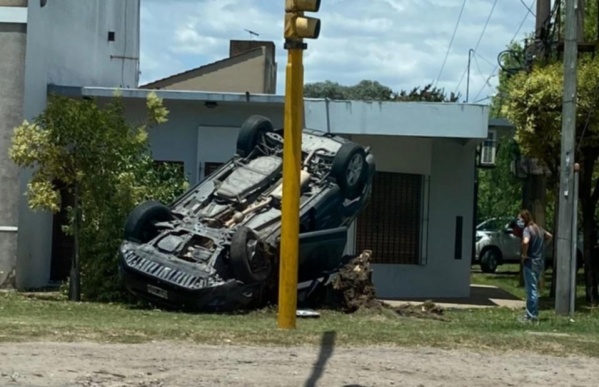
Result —
<svg viewBox="0 0 599 387"><path fill-rule="evenodd" d="M52 215L27 207L12 129L45 109L48 85L136 87L139 16L139 0L0 0L0 287L51 277Z"/></svg>

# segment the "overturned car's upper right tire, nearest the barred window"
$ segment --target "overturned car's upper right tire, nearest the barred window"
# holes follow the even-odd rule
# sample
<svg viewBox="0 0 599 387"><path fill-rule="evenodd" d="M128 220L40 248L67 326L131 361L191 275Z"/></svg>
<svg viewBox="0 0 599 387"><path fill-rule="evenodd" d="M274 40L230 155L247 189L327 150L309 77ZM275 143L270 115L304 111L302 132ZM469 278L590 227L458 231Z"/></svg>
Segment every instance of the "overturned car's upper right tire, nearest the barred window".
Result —
<svg viewBox="0 0 599 387"><path fill-rule="evenodd" d="M341 194L346 199L351 200L360 196L367 173L368 165L364 148L353 142L343 144L333 160L331 176L337 181Z"/></svg>

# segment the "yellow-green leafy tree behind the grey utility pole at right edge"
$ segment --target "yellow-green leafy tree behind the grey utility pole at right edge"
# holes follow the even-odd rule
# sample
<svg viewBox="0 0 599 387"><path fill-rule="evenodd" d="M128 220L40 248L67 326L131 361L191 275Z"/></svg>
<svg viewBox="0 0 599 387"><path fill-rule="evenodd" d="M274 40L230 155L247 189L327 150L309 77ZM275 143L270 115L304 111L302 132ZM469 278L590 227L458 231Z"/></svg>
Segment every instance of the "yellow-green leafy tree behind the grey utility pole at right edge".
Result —
<svg viewBox="0 0 599 387"><path fill-rule="evenodd" d="M581 165L579 198L584 235L586 296L599 299L593 246L595 212L599 201L596 161L599 158L599 59L584 58L578 66L576 154ZM507 116L516 125L522 151L543 160L554 177L559 176L563 98L563 65L535 67L530 74L510 80Z"/></svg>

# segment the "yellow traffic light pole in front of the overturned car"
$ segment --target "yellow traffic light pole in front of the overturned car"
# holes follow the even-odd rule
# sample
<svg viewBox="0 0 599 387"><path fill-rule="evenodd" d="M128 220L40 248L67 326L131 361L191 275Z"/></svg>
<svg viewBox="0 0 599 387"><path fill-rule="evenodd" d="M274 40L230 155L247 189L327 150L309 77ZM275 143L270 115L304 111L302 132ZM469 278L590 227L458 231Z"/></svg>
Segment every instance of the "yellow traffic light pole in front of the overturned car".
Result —
<svg viewBox="0 0 599 387"><path fill-rule="evenodd" d="M317 12L320 0L285 1L285 127L283 143L283 199L281 204L281 254L279 259L279 328L296 324L299 256L300 171L304 116L304 65L307 45L303 38L316 39L320 20L304 17Z"/></svg>

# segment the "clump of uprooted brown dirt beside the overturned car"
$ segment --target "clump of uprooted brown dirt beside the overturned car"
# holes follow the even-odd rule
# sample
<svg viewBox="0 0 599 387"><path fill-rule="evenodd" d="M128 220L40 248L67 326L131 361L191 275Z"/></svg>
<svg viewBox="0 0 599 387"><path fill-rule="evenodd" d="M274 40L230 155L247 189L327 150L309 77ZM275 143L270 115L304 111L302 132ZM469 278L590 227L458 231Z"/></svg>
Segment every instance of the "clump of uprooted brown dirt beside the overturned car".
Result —
<svg viewBox="0 0 599 387"><path fill-rule="evenodd" d="M371 262L372 251L364 250L343 265L329 285L326 307L345 313L387 309L402 317L446 320L443 308L431 301L391 306L378 300L372 283Z"/></svg>

